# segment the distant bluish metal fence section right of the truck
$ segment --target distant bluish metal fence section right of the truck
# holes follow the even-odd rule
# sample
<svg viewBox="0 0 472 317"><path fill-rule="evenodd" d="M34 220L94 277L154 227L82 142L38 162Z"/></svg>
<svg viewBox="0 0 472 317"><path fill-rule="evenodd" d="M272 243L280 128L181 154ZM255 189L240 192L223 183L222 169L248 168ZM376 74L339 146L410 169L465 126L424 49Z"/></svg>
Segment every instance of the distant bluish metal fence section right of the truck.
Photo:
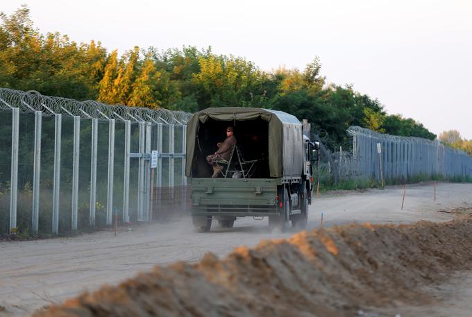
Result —
<svg viewBox="0 0 472 317"><path fill-rule="evenodd" d="M378 182L472 178L472 157L437 140L385 135L358 126L347 132L353 137L352 147L330 152L329 160L321 163L322 174Z"/></svg>

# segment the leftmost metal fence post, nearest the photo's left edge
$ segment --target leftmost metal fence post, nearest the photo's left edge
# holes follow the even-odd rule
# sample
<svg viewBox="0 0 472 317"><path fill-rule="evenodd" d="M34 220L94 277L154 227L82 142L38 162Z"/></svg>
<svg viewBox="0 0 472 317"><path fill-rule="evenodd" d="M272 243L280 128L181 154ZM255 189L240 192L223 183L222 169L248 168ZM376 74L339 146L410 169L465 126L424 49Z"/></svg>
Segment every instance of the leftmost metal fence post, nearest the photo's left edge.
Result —
<svg viewBox="0 0 472 317"><path fill-rule="evenodd" d="M10 234L17 230L19 108L12 108L12 164L10 178Z"/></svg>

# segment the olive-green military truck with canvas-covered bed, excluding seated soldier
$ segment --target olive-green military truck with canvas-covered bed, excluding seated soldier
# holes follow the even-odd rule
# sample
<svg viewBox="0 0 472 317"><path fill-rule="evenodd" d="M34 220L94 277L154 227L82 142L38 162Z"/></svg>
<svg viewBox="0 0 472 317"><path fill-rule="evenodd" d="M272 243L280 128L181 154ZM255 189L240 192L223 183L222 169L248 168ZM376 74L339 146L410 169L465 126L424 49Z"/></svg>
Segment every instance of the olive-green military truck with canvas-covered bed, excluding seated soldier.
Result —
<svg viewBox="0 0 472 317"><path fill-rule="evenodd" d="M217 150L228 126L237 139L217 178L206 156ZM208 108L187 122L185 175L192 188L192 221L202 232L212 220L232 228L238 217L269 217L285 230L307 225L312 202L309 125L285 112L256 108ZM307 128L308 127L308 128ZM226 162L225 162L226 161Z"/></svg>

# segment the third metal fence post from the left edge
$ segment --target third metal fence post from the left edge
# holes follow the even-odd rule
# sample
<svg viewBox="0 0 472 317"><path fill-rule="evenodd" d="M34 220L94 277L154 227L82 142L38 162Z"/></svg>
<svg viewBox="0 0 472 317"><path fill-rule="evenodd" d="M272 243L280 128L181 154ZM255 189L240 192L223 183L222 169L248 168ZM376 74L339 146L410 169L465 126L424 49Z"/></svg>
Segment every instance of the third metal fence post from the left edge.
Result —
<svg viewBox="0 0 472 317"><path fill-rule="evenodd" d="M55 114L56 138L54 140L54 185L53 185L53 234L59 233L59 196L60 196L60 142L62 131L62 114Z"/></svg>

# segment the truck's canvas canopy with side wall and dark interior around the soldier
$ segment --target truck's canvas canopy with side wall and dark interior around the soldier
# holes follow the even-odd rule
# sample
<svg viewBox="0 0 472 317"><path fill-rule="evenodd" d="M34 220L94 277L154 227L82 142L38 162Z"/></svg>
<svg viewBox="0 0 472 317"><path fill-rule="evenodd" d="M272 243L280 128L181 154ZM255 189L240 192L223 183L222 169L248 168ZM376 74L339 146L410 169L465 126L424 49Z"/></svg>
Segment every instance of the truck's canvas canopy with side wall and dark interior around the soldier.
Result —
<svg viewBox="0 0 472 317"><path fill-rule="evenodd" d="M301 174L303 132L302 125L296 117L277 110L225 107L201 110L187 122L185 166L187 177L198 177L198 175L193 175L194 160L197 156L201 160L203 155L212 154L215 151L216 143L224 140L224 131L227 126L235 128L238 146L258 144L258 150L265 152L264 155L268 161L265 177L290 178ZM251 133L253 139L247 137ZM212 146L210 151L208 149L206 152L202 151L202 147L208 148L208 146ZM196 153L201 153L201 155L196 155ZM254 151L249 154L255 155Z"/></svg>

